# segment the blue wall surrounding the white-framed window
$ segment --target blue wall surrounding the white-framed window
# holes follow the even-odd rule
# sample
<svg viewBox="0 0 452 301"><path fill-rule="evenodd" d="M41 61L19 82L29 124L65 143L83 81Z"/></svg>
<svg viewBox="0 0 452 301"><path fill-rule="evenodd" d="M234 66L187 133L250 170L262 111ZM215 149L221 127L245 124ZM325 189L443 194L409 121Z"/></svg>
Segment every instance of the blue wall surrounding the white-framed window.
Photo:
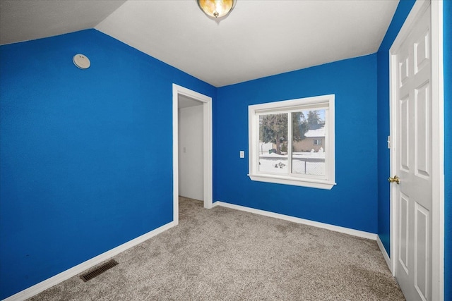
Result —
<svg viewBox="0 0 452 301"><path fill-rule="evenodd" d="M214 200L376 233L376 54L220 87L214 104ZM331 190L251 181L248 106L335 94Z"/></svg>

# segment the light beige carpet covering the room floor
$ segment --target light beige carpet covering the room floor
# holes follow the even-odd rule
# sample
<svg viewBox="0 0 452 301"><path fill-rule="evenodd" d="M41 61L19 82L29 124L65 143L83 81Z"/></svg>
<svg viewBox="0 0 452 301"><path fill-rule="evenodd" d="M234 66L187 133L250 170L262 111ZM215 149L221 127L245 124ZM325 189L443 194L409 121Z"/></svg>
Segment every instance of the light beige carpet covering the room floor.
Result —
<svg viewBox="0 0 452 301"><path fill-rule="evenodd" d="M405 300L373 240L179 199L179 226L30 300Z"/></svg>

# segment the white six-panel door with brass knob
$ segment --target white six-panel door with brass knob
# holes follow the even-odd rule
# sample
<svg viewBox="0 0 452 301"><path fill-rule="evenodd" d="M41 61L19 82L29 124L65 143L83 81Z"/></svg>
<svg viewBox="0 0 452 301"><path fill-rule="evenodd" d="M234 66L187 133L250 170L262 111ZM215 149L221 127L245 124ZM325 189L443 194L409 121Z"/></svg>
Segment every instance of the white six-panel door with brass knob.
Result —
<svg viewBox="0 0 452 301"><path fill-rule="evenodd" d="M407 300L432 300L432 63L430 6L393 52L396 68L395 275Z"/></svg>

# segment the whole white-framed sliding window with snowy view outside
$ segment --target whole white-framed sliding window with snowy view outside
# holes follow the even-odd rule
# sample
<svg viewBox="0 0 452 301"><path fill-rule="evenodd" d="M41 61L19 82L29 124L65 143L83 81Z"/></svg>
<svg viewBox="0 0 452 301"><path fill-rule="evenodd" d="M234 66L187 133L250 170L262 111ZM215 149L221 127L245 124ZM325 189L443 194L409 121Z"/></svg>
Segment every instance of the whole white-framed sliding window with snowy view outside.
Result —
<svg viewBox="0 0 452 301"><path fill-rule="evenodd" d="M333 188L334 94L249 106L249 177Z"/></svg>

